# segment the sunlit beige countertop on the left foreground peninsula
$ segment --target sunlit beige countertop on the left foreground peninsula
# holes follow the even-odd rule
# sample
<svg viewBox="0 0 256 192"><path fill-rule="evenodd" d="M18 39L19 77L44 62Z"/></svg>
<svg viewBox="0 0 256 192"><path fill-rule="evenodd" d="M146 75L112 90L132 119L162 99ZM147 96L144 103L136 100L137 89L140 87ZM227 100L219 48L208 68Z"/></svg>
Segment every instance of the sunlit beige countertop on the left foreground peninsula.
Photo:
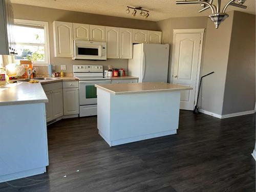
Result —
<svg viewBox="0 0 256 192"><path fill-rule="evenodd" d="M48 102L40 83L17 82L0 86L0 106Z"/></svg>

